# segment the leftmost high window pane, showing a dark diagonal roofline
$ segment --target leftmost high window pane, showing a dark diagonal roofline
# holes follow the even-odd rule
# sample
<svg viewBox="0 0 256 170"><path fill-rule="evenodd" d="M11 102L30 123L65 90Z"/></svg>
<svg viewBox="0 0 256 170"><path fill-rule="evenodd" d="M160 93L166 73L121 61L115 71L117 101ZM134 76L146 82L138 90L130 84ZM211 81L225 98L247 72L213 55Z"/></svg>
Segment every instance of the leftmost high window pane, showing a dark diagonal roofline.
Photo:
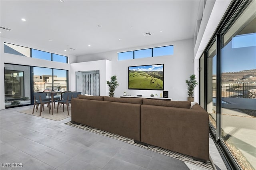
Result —
<svg viewBox="0 0 256 170"><path fill-rule="evenodd" d="M14 45L10 43L4 43L4 52L15 54L15 55L21 55L25 57L30 57L30 48Z"/></svg>

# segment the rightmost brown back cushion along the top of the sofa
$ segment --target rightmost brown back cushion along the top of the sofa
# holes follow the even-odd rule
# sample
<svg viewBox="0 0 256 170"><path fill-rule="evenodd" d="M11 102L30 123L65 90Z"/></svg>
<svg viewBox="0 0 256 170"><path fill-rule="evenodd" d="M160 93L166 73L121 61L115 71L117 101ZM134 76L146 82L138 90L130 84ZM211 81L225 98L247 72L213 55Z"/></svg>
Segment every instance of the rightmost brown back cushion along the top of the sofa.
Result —
<svg viewBox="0 0 256 170"><path fill-rule="evenodd" d="M143 105L179 107L179 108L190 109L191 102L190 101L163 101L163 100L143 98Z"/></svg>

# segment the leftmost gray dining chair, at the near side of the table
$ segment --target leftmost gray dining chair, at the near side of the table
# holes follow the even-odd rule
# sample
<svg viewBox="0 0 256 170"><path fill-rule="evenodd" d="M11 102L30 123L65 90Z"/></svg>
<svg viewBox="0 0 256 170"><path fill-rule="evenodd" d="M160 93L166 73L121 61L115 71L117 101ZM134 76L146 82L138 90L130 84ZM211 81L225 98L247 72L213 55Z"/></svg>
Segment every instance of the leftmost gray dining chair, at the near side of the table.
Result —
<svg viewBox="0 0 256 170"><path fill-rule="evenodd" d="M39 116L41 116L42 109L44 109L44 104L47 104L49 109L49 114L50 114L51 103L50 103L50 100L46 98L46 93L38 93L38 92L34 93L34 107L33 107L32 115L34 114L35 106L36 106L36 111L38 110L39 104L40 104Z"/></svg>

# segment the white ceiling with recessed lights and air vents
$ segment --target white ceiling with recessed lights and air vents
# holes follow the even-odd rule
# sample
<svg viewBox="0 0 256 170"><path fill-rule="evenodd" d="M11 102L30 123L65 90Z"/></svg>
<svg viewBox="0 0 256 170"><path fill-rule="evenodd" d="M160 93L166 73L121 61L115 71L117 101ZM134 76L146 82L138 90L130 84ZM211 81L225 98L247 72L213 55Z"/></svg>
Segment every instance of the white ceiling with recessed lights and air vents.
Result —
<svg viewBox="0 0 256 170"><path fill-rule="evenodd" d="M11 29L1 29L1 37L80 56L193 38L199 1L1 0L0 6L1 26Z"/></svg>

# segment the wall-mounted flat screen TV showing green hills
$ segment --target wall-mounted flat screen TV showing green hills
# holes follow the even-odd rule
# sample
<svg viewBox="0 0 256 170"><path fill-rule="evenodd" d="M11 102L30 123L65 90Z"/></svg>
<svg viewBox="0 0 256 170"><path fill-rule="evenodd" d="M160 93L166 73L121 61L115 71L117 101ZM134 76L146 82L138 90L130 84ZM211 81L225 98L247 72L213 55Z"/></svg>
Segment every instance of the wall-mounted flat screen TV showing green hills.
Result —
<svg viewBox="0 0 256 170"><path fill-rule="evenodd" d="M128 89L164 90L164 64L128 67Z"/></svg>

